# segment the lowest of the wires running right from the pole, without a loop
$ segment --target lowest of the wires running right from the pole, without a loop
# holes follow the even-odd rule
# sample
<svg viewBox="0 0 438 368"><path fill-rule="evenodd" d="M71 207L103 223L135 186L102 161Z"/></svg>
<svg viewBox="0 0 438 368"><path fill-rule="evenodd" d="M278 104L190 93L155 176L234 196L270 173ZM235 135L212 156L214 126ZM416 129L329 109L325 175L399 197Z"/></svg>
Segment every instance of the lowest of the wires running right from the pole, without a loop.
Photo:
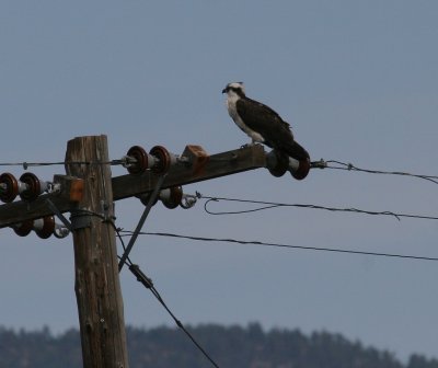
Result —
<svg viewBox="0 0 438 368"><path fill-rule="evenodd" d="M132 231L124 230L120 232L126 233L126 235L122 234L122 237L128 237ZM204 241L204 242L224 242L224 243L234 243L234 244L243 244L243 245L262 245L262 246L297 249L297 250L307 250L307 251L322 251L322 252L345 253L345 254L356 254L356 255L373 255L373 256L384 256L384 257L417 260L417 261L438 261L438 257L428 257L428 256L419 256L419 255L404 255L404 254L394 254L394 253L350 251L350 250L323 248L323 246L290 245L290 244L262 242L262 241L247 241L247 240L238 240L238 239L229 239L229 238L205 238L205 237L194 237L194 235L182 235L182 234L169 233L169 232L140 232L139 234L187 239L187 240Z"/></svg>

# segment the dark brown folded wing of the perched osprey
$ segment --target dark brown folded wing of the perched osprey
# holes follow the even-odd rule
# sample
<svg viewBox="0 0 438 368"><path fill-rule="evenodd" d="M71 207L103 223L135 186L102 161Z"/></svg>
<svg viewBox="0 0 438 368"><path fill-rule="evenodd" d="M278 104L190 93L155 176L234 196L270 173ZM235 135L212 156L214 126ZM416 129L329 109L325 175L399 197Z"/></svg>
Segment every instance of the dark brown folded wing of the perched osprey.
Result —
<svg viewBox="0 0 438 368"><path fill-rule="evenodd" d="M245 125L265 139L265 145L297 160L307 160L309 153L293 140L290 126L274 110L251 99L240 99L238 114Z"/></svg>

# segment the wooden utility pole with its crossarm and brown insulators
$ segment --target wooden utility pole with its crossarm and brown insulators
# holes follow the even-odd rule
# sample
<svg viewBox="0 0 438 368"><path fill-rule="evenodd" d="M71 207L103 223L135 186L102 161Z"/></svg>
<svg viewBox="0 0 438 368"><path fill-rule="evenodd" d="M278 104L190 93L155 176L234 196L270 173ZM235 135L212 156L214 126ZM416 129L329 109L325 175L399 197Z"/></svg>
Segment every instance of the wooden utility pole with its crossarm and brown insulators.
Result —
<svg viewBox="0 0 438 368"><path fill-rule="evenodd" d="M310 159L285 159L275 151L266 153L261 145L212 156L199 146L187 146L178 157L161 146L149 153L134 146L123 160L115 161L126 165L129 174L112 177L106 136L78 137L67 145L67 175L55 175L51 186L31 173L20 180L10 173L0 174L0 200L4 202L0 229L12 227L22 237L35 230L46 239L56 234L57 216L73 234L84 368L128 368L113 222L115 200L260 168L267 168L274 176L289 171L301 180L310 169ZM18 195L22 200L14 202ZM71 214L71 223L64 212Z"/></svg>

